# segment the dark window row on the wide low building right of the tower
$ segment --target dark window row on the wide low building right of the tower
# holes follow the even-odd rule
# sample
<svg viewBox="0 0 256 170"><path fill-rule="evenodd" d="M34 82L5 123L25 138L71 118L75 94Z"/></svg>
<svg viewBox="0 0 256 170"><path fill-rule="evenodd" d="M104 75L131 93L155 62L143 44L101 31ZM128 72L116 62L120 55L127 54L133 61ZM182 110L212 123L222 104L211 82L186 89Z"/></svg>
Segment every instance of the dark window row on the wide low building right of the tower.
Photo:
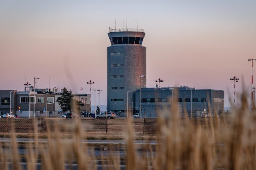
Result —
<svg viewBox="0 0 256 170"><path fill-rule="evenodd" d="M143 98L141 102L148 102L148 103L153 103L153 102L169 102L171 101L171 98ZM178 102L190 102L191 98L178 98ZM192 98L192 102L206 102L206 98Z"/></svg>

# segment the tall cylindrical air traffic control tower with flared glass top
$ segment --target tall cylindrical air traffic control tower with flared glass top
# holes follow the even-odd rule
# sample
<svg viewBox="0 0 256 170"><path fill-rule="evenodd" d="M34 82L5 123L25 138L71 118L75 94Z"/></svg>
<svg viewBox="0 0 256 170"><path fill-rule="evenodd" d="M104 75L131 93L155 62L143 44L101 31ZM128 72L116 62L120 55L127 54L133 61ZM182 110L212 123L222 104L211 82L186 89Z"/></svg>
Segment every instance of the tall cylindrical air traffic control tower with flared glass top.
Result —
<svg viewBox="0 0 256 170"><path fill-rule="evenodd" d="M140 29L110 29L107 47L107 111L131 116L135 109L135 91L146 87L146 47L142 46L145 33ZM140 77L144 75L145 77ZM127 92L128 101L127 101Z"/></svg>

